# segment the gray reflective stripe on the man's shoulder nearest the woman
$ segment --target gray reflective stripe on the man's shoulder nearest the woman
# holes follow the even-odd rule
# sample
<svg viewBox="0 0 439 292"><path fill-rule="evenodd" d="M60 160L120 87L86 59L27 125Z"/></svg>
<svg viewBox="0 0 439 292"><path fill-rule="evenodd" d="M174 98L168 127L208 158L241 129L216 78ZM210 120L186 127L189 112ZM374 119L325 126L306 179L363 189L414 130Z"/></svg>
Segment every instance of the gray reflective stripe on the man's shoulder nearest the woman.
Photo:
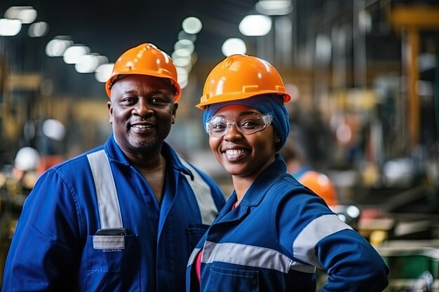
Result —
<svg viewBox="0 0 439 292"><path fill-rule="evenodd" d="M210 186L201 178L200 174L198 174L194 167L191 167L189 163L181 158L180 161L194 176L194 180L192 181L189 175L184 175L189 186L191 186L191 189L194 191L196 202L198 203L198 209L200 209L201 213L201 222L210 225L218 214L217 206L215 205L215 202L213 202Z"/></svg>

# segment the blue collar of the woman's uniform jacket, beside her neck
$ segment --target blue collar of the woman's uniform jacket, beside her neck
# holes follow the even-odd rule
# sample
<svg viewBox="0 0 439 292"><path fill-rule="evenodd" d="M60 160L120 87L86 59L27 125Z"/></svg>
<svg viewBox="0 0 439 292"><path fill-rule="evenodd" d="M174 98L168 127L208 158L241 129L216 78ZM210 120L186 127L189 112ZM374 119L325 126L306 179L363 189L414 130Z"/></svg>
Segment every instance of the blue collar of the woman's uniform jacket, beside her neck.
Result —
<svg viewBox="0 0 439 292"><path fill-rule="evenodd" d="M269 188L271 188L286 171L287 165L285 165L285 161L281 155L276 154L273 163L257 176L257 179L247 190L240 204L248 206L259 204Z"/></svg>

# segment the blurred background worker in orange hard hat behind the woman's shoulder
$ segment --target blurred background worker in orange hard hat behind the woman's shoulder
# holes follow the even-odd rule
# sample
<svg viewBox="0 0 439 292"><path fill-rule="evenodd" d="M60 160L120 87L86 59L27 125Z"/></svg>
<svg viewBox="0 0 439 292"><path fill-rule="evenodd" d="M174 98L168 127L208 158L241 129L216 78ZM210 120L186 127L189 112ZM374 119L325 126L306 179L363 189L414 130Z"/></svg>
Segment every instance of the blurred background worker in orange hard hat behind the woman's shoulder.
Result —
<svg viewBox="0 0 439 292"><path fill-rule="evenodd" d="M329 207L339 204L334 183L326 174L313 169L306 158L304 149L297 141L289 137L280 153L287 164L288 173L297 181L320 195Z"/></svg>

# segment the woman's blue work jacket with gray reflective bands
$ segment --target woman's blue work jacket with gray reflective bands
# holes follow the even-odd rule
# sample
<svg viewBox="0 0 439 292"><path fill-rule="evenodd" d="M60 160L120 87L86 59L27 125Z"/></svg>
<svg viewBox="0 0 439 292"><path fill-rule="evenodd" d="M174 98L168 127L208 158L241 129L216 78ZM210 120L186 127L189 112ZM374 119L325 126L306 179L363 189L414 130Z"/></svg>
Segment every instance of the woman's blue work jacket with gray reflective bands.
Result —
<svg viewBox="0 0 439 292"><path fill-rule="evenodd" d="M235 209L236 193L189 258L187 291L382 291L388 267L377 251L290 174L281 156ZM201 288L194 272L201 252Z"/></svg>

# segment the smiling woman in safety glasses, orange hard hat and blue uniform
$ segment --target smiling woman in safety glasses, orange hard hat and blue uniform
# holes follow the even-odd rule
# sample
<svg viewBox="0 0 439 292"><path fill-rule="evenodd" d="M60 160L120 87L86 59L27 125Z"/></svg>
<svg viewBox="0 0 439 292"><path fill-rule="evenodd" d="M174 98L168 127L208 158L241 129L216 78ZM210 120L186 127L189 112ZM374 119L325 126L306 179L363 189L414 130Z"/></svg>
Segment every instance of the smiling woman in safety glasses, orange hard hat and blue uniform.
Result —
<svg viewBox="0 0 439 292"><path fill-rule="evenodd" d="M286 173L277 151L290 95L276 69L232 55L210 72L198 108L234 192L189 259L187 291L382 291L389 272L361 235Z"/></svg>

